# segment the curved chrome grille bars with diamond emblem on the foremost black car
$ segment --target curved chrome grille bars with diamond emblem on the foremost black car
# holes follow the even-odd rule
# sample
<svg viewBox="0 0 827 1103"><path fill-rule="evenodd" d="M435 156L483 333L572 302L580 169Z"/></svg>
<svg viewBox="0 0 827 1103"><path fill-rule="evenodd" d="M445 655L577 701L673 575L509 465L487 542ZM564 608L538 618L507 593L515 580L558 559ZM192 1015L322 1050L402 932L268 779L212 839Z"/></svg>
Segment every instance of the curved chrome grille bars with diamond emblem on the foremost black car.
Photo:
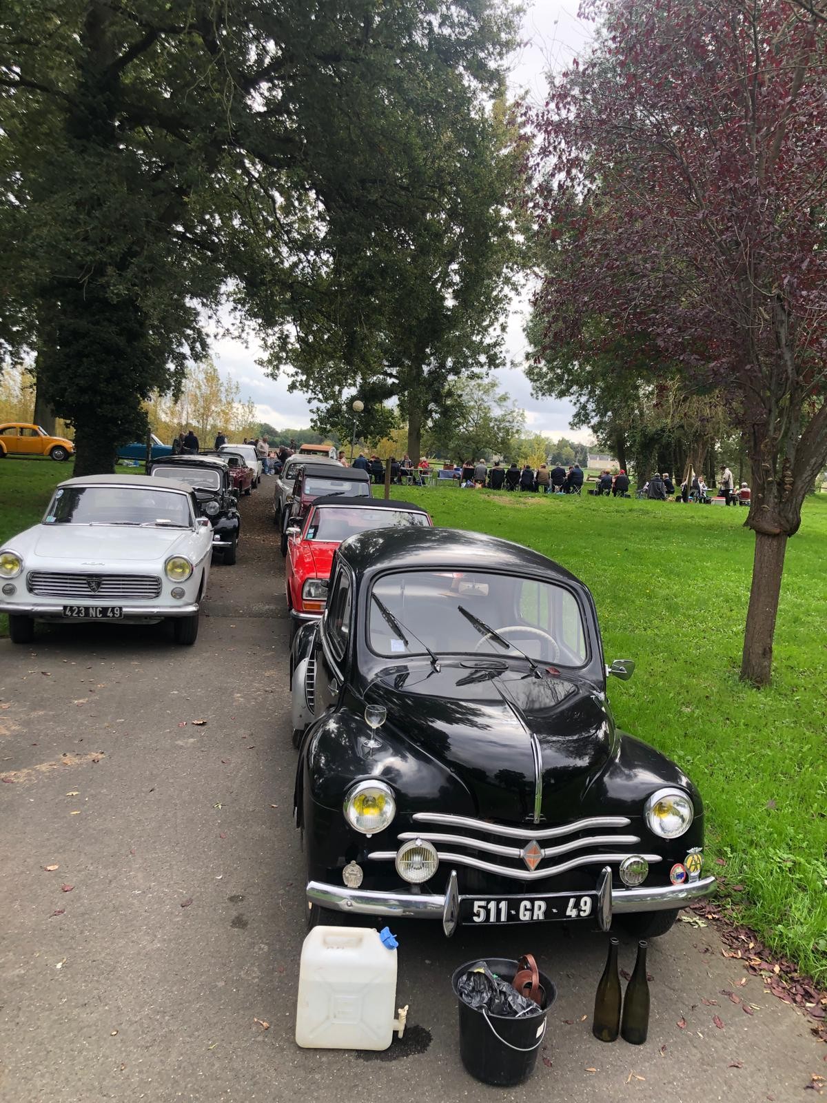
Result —
<svg viewBox="0 0 827 1103"><path fill-rule="evenodd" d="M414 838L421 838L433 843L441 863L454 866L469 866L483 872L494 874L498 877L506 877L518 881L543 880L547 877L557 877L559 874L568 872L580 866L615 865L624 858L640 852L634 849L641 842L640 836L631 834L620 834L617 828L627 827L632 822L626 816L589 816L583 820L576 820L569 824L561 824L557 827L545 827L540 831L531 829L530 826L514 827L502 824L492 824L485 820L473 820L469 816L453 816L443 812L417 812L414 820L421 824L436 824L442 828L451 831L429 831L423 827L418 832L401 832L397 838L400 843ZM614 828L615 834L606 834L608 829ZM466 834L468 832L479 833L480 836ZM580 834L578 838L568 839L566 836ZM497 842L496 838L501 842ZM543 843L551 839L562 839L562 842L544 846ZM511 843L512 845L507 845ZM539 858L535 868L530 868L523 860L524 850L534 844L539 850ZM440 849L440 846L443 849ZM451 849L444 849L451 847ZM609 847L611 849L603 849ZM470 853L463 853L470 852ZM588 850L587 854L574 852ZM509 859L507 861L490 861L481 855L494 855L497 858ZM556 865L545 865L548 859L565 858ZM396 858L394 850L378 850L368 855L372 861L389 861ZM534 854L531 855L534 857ZM649 863L660 860L657 854L644 854Z"/></svg>

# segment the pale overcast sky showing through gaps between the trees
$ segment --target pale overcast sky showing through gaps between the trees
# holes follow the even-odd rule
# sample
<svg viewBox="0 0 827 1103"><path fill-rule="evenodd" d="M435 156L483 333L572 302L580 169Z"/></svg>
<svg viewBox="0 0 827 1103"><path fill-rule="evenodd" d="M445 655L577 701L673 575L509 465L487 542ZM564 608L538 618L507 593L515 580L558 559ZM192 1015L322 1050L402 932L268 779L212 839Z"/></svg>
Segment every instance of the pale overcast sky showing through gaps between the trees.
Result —
<svg viewBox="0 0 827 1103"><path fill-rule="evenodd" d="M527 93L541 103L545 98L545 74L568 65L579 54L591 36L591 26L577 18L578 0L537 0L528 8L523 21L523 43L515 53L511 87L516 95ZM528 290L515 298L508 318L505 343L508 363L515 366L498 372L503 389L522 406L526 414L526 428L534 432L566 435L578 440L591 439L589 432L569 430L571 406L566 400L537 399L522 364L525 360L526 340L523 326L528 312ZM258 349L253 339L248 344L221 339L213 345L213 356L222 374L237 379L241 399L251 398L258 415L277 429L301 429L310 425L310 408L301 394L289 394L284 376L271 379L256 366Z"/></svg>

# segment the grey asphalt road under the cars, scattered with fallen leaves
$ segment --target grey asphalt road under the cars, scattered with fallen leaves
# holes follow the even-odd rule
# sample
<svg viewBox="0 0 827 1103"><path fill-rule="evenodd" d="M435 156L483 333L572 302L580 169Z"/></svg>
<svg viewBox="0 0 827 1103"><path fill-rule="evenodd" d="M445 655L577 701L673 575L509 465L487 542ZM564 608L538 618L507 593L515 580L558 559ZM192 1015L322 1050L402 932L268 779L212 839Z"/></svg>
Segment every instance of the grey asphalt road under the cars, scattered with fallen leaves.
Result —
<svg viewBox="0 0 827 1103"><path fill-rule="evenodd" d="M652 943L644 1047L591 1036L604 938L447 941L415 922L396 931L406 1039L296 1047L303 875L270 486L243 503L238 563L214 568L194 647L117 625L0 640L0 1100L806 1101L827 1048L690 923ZM519 1089L486 1088L460 1063L449 978L525 951L559 989L543 1060ZM621 956L631 968L632 943Z"/></svg>

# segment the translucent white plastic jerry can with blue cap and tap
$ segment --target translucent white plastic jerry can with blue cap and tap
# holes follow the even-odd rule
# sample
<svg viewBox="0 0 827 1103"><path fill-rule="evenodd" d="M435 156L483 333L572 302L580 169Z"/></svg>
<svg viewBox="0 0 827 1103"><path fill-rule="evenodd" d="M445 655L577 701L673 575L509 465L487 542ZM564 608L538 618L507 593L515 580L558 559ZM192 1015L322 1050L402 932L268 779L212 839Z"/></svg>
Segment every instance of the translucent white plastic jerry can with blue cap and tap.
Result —
<svg viewBox="0 0 827 1103"><path fill-rule="evenodd" d="M296 1042L304 1049L387 1049L401 1038L395 1016L396 950L369 927L315 927L299 968Z"/></svg>

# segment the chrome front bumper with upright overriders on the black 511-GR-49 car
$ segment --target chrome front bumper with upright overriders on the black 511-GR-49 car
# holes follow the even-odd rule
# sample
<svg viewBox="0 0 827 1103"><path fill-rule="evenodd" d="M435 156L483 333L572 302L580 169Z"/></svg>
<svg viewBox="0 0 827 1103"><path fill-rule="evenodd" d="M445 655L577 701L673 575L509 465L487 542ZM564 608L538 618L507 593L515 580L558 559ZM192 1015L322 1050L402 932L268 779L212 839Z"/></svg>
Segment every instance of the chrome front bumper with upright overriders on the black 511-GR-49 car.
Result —
<svg viewBox="0 0 827 1103"><path fill-rule="evenodd" d="M612 925L612 914L635 911L667 911L684 908L715 892L717 878L702 877L686 885L667 885L657 888L614 889L610 875L603 870L598 882L598 921L602 930ZM457 871L452 870L444 895L414 892L374 892L363 889L347 889L342 885L324 885L309 881L307 887L309 903L316 903L332 911L344 911L356 915L383 915L393 919L441 919L447 935L453 934L459 924L460 893ZM549 893L559 897L561 893ZM543 898L544 893L537 893ZM535 893L531 893L535 897Z"/></svg>

